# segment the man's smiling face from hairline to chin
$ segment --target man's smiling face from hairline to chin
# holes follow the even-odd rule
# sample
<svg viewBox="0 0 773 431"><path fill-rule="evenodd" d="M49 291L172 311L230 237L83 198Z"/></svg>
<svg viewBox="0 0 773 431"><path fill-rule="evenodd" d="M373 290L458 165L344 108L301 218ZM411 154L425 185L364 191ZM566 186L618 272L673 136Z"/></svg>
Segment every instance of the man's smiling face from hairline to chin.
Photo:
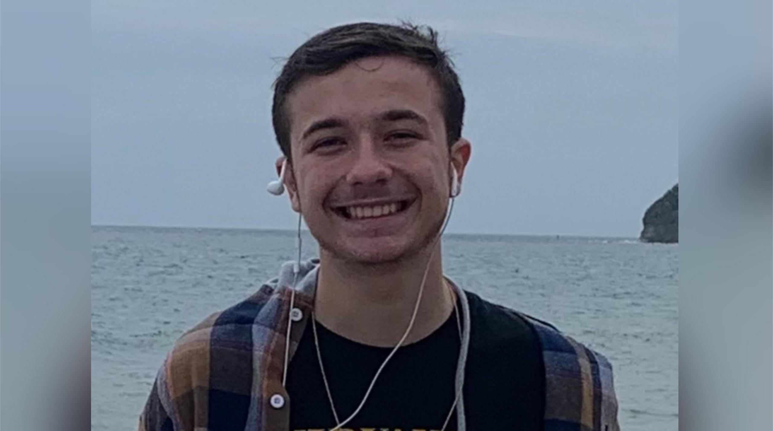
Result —
<svg viewBox="0 0 773 431"><path fill-rule="evenodd" d="M301 81L287 108L291 203L322 249L383 263L432 242L448 205L449 161L461 181L470 145L458 141L449 158L441 94L423 66L360 59Z"/></svg>

